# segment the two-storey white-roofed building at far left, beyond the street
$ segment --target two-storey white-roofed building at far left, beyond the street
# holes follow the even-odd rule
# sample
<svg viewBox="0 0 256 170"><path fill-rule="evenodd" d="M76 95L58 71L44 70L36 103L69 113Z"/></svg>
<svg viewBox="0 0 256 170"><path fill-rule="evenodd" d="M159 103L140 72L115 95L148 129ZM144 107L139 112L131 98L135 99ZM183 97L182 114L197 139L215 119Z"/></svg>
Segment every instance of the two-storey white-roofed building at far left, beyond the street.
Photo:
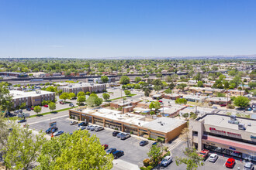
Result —
<svg viewBox="0 0 256 170"><path fill-rule="evenodd" d="M55 93L43 90L36 91L20 91L10 90L12 94L13 107L18 107L22 103L26 103L27 107L41 105L43 100L55 100Z"/></svg>

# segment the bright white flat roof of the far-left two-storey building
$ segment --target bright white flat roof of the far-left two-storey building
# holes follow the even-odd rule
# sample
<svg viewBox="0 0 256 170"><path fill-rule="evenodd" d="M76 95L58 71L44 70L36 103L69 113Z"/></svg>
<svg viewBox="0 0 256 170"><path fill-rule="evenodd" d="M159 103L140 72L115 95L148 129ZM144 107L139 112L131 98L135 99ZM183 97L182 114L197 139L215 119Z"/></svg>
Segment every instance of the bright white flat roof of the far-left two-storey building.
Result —
<svg viewBox="0 0 256 170"><path fill-rule="evenodd" d="M12 94L12 99L18 99L21 97L36 97L36 96L40 96L42 94L51 94L54 92L50 92L50 91L44 91L44 90L38 90L40 91L40 93L36 93L36 91L20 91L20 90L10 90L10 94Z"/></svg>

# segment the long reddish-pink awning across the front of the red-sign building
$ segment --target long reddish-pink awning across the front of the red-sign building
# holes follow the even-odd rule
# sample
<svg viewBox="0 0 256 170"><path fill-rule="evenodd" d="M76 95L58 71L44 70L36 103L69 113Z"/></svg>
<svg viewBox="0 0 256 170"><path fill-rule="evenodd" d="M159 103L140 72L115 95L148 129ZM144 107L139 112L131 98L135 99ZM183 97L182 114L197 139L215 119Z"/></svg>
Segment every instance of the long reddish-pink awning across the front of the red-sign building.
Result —
<svg viewBox="0 0 256 170"><path fill-rule="evenodd" d="M209 136L209 135L202 135L202 141L212 141L221 145L227 145L227 147L241 148L248 151L256 152L255 145L243 143L240 141L232 141L230 139L219 138L219 137Z"/></svg>

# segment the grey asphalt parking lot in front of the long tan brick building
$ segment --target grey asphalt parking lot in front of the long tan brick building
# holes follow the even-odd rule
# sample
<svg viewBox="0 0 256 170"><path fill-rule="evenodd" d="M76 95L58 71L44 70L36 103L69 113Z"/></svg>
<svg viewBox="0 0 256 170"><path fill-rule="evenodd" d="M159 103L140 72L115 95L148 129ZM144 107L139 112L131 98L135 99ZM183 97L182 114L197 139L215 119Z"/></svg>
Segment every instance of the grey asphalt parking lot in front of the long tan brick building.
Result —
<svg viewBox="0 0 256 170"><path fill-rule="evenodd" d="M36 131L46 131L50 126L50 120L57 121L57 128L59 131L71 133L72 131L77 131L78 129L78 124L70 125L70 119L65 115L60 115L58 118L46 119L43 121L38 119L36 121L30 122L30 120L28 120L27 123L29 124L29 128L32 128ZM135 165L142 165L142 161L144 158L147 158L147 152L153 143L150 141L148 145L140 147L139 143L142 141L141 139L132 136L126 140L120 140L119 138L112 136L112 130L110 129L105 129L98 132L89 132L90 134L96 134L101 143L109 145L109 148L116 148L117 150L124 151L124 155L119 159Z"/></svg>

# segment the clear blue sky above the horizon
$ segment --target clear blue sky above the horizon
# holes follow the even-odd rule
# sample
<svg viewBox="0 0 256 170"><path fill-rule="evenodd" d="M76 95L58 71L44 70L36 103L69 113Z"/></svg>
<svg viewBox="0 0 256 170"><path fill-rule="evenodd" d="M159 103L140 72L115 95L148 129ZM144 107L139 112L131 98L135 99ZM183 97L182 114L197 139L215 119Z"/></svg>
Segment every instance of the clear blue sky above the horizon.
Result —
<svg viewBox="0 0 256 170"><path fill-rule="evenodd" d="M255 8L255 0L0 0L0 57L255 54Z"/></svg>

